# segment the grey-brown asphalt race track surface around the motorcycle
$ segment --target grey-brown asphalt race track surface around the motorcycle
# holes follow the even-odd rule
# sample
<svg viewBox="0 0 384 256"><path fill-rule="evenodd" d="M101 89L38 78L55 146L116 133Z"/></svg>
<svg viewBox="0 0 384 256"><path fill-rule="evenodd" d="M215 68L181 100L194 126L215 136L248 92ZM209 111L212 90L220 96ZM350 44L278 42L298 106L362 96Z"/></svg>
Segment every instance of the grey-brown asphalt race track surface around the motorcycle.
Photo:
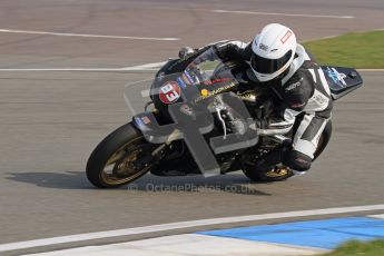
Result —
<svg viewBox="0 0 384 256"><path fill-rule="evenodd" d="M383 11L382 0L1 1L0 244L383 204L383 71L362 71L364 87L335 104L332 141L308 175L278 184L253 184L240 173L213 178L148 175L129 189L99 190L85 177L87 158L108 132L130 120L124 86L149 79L154 71L28 70L158 62L185 45L248 41L268 22L291 26L301 40L380 29ZM185 191L169 190L176 185L185 185Z"/></svg>

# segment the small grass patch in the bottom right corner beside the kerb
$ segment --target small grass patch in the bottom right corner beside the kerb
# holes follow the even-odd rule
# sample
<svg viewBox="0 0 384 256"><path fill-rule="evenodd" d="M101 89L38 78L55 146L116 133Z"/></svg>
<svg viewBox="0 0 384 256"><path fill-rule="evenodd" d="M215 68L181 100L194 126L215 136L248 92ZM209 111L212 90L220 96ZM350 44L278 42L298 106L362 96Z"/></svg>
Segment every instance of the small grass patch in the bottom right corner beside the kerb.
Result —
<svg viewBox="0 0 384 256"><path fill-rule="evenodd" d="M322 256L383 256L384 255L384 240L371 240L371 242L347 242L337 247L332 253L324 254Z"/></svg>

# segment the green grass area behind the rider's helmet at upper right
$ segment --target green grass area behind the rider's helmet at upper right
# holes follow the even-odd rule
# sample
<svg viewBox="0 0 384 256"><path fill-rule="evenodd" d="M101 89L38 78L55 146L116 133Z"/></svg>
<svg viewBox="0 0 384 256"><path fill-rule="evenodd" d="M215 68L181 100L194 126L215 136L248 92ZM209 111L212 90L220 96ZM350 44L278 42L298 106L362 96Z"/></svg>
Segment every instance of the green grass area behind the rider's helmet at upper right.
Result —
<svg viewBox="0 0 384 256"><path fill-rule="evenodd" d="M321 65L384 68L384 31L352 32L303 45Z"/></svg>

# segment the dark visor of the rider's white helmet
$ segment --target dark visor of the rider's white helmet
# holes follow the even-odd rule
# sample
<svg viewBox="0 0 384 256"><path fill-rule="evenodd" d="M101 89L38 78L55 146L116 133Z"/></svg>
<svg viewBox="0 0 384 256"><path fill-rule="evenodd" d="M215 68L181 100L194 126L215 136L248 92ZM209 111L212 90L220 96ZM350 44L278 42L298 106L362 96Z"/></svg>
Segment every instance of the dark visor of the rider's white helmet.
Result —
<svg viewBox="0 0 384 256"><path fill-rule="evenodd" d="M250 67L259 73L274 73L280 68L283 68L291 59L292 50L285 53L279 59L266 59L256 53L253 53L250 57Z"/></svg>

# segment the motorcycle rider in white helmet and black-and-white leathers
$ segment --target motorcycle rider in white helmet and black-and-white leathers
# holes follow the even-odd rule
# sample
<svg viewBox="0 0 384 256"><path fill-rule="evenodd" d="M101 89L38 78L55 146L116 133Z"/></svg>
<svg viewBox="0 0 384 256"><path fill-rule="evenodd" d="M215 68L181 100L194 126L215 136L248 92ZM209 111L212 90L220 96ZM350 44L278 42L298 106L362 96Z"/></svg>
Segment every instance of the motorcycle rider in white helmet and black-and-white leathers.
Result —
<svg viewBox="0 0 384 256"><path fill-rule="evenodd" d="M297 43L293 30L270 23L249 43L227 40L214 45L223 60L246 61L249 81L269 87L279 99L274 115L256 120L259 135L284 135L298 125L293 140L272 150L256 168L268 171L283 163L294 174L308 170L331 119L333 100L324 72Z"/></svg>

